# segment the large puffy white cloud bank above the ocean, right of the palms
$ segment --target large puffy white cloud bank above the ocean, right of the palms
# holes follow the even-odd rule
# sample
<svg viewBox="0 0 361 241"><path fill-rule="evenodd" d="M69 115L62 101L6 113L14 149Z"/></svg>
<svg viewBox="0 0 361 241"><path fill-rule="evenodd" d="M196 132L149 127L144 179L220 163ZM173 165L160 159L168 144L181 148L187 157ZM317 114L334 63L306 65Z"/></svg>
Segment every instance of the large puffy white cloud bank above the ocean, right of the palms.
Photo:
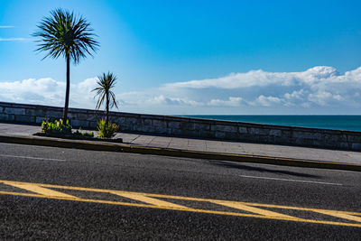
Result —
<svg viewBox="0 0 361 241"><path fill-rule="evenodd" d="M218 79L169 83L161 89L172 95L196 96L209 106L241 106L230 101L230 97L237 95L242 97L242 105L251 107L358 108L361 68L343 75L327 66L301 72L251 70Z"/></svg>

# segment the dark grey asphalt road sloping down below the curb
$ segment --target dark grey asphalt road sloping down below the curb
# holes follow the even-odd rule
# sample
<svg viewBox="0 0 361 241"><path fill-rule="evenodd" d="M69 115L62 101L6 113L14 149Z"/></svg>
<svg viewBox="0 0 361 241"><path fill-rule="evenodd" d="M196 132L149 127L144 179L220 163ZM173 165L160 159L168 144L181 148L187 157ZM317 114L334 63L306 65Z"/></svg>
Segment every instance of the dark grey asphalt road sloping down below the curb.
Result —
<svg viewBox="0 0 361 241"><path fill-rule="evenodd" d="M48 188L81 199L36 196L49 189L29 183L56 185ZM162 205L170 206L153 208L143 205L154 199L142 193L181 198L163 197ZM202 199L269 206L256 206L261 217L253 217L259 209ZM360 240L361 216L299 208L360 213L361 173L0 144L0 239ZM272 218L267 211L311 221Z"/></svg>

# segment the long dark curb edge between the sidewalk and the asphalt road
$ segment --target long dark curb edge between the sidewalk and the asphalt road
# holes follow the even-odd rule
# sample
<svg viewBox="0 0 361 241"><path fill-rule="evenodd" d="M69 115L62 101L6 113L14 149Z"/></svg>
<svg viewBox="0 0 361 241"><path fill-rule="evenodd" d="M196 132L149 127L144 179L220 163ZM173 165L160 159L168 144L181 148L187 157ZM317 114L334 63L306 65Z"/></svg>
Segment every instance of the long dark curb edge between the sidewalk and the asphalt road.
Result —
<svg viewBox="0 0 361 241"><path fill-rule="evenodd" d="M42 145L42 146L72 148L72 149L91 150L91 151L141 153L141 154L165 155L165 156L173 156L173 157L187 157L187 158L230 161L230 162L250 162L250 163L263 163L263 164L273 164L273 165L283 165L283 166L333 169L333 170L344 170L344 171L361 171L361 165L342 163L342 162L311 161L311 160L302 160L302 159L232 154L232 153L208 153L208 152L188 151L188 150L160 148L160 147L93 143L88 141L74 142L69 140L59 140L59 139L50 139L50 138L41 139L34 137L0 135L0 143L30 144L30 145Z"/></svg>

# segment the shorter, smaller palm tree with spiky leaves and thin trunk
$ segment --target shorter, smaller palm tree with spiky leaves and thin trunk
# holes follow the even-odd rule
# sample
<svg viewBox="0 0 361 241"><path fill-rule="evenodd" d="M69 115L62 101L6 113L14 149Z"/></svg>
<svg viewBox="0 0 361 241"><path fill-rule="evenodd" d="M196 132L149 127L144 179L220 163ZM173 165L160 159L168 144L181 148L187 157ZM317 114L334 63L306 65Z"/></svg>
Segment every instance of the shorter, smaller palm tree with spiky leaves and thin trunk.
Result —
<svg viewBox="0 0 361 241"><path fill-rule="evenodd" d="M116 76L113 73L107 72L97 77L97 88L92 91L97 91L97 109L106 101L106 125L109 123L109 107L118 107L116 105L116 95L111 90L116 87Z"/></svg>

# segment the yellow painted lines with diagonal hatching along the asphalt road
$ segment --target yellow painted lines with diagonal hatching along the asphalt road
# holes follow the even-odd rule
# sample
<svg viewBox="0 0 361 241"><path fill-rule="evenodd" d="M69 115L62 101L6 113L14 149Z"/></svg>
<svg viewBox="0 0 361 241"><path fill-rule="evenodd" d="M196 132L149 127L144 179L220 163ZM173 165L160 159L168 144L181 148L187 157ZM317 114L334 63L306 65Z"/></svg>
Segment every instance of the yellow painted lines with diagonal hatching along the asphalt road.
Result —
<svg viewBox="0 0 361 241"><path fill-rule="evenodd" d="M361 213L359 212L347 212L347 211L337 211L337 210L327 210L327 209L307 209L307 208L298 208L298 207L290 207L290 206L249 203L249 202L239 202L239 201L219 200L219 199L198 199L198 198L190 198L190 197L170 196L170 195L122 191L122 190L88 189L88 188L80 188L80 187L69 187L69 186L20 182L20 181L0 181L0 183L31 192L31 193L24 193L24 192L13 192L13 191L0 191L0 194L5 194L5 195L17 195L17 196L44 198L44 199L63 199L63 200L84 201L84 202L142 207L142 208L151 208L151 209L171 209L178 211L190 211L190 212L239 216L239 217L268 218L268 219L317 223L317 224L326 224L326 225L361 227ZM56 189L56 190L52 190L52 189ZM101 200L101 199L82 199L73 195L69 195L64 192L60 192L58 190L79 190L86 192L101 192L107 194L114 194L116 196L123 197L126 199L133 199L141 203L110 201L110 200ZM208 202L220 206L225 206L231 209L235 209L235 211L191 209L183 205L166 201L164 199ZM266 209L260 209L260 208L266 208ZM312 212L313 215L320 214L321 218L320 219L297 218L267 209L286 209L286 210L291 209L291 210L299 210L304 212ZM345 221L347 222L322 220L322 216L324 215L329 216L331 218L342 218L345 219Z"/></svg>

